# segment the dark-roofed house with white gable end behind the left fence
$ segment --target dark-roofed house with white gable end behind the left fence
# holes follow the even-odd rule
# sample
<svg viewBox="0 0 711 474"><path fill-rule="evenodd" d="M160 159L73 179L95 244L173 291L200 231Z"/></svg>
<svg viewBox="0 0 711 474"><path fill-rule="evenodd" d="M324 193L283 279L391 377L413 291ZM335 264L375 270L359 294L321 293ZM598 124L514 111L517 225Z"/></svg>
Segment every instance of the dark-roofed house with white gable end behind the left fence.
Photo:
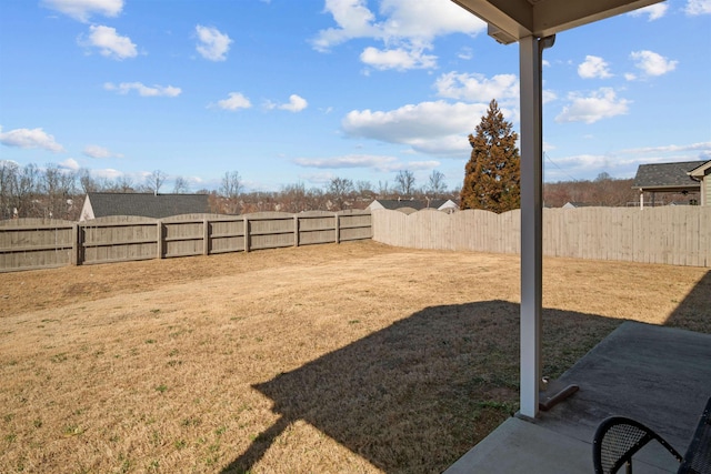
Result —
<svg viewBox="0 0 711 474"><path fill-rule="evenodd" d="M109 215L162 219L210 212L208 194L87 193L80 220Z"/></svg>

